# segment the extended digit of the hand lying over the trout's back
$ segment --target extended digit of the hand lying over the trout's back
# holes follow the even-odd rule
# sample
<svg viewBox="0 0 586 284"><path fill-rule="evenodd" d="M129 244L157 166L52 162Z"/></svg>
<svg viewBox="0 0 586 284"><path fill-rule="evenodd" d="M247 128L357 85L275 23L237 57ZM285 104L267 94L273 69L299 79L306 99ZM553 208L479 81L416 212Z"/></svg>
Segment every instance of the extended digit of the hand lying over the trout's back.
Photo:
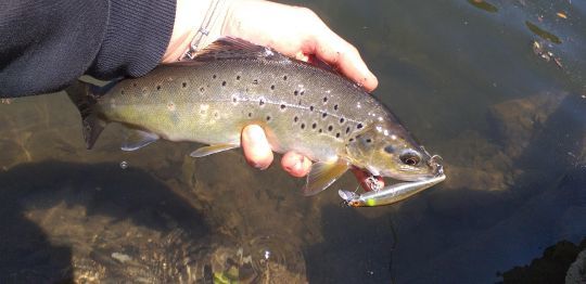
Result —
<svg viewBox="0 0 586 284"><path fill-rule="evenodd" d="M324 27L322 35L315 36L313 48L319 60L332 65L367 91L374 90L379 85L379 80L368 69L358 50L328 27Z"/></svg>

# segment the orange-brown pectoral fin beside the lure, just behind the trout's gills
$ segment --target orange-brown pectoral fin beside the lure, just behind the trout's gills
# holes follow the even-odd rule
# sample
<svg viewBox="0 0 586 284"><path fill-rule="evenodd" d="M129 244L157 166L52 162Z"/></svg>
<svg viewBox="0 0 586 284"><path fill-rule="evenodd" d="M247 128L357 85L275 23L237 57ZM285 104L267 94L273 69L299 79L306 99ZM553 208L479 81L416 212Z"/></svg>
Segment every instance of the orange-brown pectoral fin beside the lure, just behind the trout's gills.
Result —
<svg viewBox="0 0 586 284"><path fill-rule="evenodd" d="M318 162L311 165L311 171L307 175L307 183L303 188L303 194L310 196L320 193L337 180L349 166L346 160Z"/></svg>

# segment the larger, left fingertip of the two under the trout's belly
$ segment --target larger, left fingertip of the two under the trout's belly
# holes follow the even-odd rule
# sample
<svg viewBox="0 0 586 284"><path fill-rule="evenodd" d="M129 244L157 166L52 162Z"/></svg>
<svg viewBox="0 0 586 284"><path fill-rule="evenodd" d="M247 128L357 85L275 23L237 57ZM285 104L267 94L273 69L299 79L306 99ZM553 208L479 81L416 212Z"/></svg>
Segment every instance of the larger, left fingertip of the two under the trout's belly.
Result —
<svg viewBox="0 0 586 284"><path fill-rule="evenodd" d="M266 169L272 163L272 151L265 131L256 125L246 126L242 130L242 151L249 165Z"/></svg>

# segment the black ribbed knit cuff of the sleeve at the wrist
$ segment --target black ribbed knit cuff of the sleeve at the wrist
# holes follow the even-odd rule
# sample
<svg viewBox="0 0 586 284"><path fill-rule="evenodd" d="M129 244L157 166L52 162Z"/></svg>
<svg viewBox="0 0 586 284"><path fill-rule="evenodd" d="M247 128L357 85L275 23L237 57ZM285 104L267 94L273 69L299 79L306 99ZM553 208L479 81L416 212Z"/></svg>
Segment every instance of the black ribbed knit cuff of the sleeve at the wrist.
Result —
<svg viewBox="0 0 586 284"><path fill-rule="evenodd" d="M87 74L113 79L149 73L167 49L175 9L176 0L112 0L104 40Z"/></svg>

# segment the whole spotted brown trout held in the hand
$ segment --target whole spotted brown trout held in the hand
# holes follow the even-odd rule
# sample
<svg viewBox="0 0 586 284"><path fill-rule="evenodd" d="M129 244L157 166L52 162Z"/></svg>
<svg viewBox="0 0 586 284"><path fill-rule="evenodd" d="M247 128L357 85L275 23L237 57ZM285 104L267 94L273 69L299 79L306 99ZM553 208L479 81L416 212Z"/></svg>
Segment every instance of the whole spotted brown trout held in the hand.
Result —
<svg viewBox="0 0 586 284"><path fill-rule="evenodd" d="M314 162L304 195L329 188L351 167L377 177L422 181L438 159L360 86L324 64L288 57L237 38L220 38L193 60L160 65L143 77L67 89L82 119L87 149L110 122L129 129L122 150L160 140L206 144L192 157L240 147L241 131L260 126L272 151Z"/></svg>

